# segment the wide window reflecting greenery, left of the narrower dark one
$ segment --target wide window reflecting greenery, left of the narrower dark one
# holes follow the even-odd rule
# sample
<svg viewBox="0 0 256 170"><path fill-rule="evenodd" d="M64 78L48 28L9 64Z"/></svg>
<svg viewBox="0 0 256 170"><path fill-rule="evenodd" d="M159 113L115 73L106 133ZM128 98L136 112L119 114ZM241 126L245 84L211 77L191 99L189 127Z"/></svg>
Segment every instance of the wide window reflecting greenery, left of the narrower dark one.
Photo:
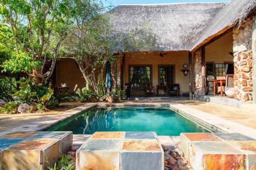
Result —
<svg viewBox="0 0 256 170"><path fill-rule="evenodd" d="M131 83L152 83L151 66L130 66Z"/></svg>

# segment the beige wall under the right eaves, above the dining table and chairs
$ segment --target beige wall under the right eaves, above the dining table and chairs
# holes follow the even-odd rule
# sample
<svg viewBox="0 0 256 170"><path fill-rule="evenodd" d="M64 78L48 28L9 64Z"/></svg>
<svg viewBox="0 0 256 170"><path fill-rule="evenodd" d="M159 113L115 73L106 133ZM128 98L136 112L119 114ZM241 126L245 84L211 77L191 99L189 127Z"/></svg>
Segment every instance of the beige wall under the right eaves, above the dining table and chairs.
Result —
<svg viewBox="0 0 256 170"><path fill-rule="evenodd" d="M230 52L233 52L232 32L205 46L205 60L215 63L232 62L233 56Z"/></svg>

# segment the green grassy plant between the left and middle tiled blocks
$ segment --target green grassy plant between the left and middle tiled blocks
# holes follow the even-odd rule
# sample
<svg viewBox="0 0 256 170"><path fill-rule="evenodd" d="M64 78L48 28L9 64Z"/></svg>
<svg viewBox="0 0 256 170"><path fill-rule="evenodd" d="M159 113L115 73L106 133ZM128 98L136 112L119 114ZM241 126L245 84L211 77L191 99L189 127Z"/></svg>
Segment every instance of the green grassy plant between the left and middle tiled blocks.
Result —
<svg viewBox="0 0 256 170"><path fill-rule="evenodd" d="M70 155L63 154L61 158L57 160L53 166L49 166L49 170L72 170L75 168L75 162L71 160Z"/></svg>

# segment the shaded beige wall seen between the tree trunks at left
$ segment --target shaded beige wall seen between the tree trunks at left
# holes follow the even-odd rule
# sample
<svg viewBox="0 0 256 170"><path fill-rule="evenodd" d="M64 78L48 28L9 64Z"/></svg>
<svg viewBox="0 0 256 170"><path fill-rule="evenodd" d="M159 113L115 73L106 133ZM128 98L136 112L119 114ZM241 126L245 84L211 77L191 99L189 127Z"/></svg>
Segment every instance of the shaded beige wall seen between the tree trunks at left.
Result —
<svg viewBox="0 0 256 170"><path fill-rule="evenodd" d="M70 87L68 92L72 92L76 84L80 89L86 85L80 69L73 59L61 58L57 61L56 84L60 86L61 83L68 84Z"/></svg>

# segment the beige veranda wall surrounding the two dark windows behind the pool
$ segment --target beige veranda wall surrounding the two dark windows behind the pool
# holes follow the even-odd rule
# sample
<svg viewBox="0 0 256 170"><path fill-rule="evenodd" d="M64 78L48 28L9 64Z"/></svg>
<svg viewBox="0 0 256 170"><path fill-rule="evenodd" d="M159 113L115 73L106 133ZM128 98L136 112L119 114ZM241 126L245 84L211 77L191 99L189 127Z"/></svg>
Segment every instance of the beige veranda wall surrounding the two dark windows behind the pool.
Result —
<svg viewBox="0 0 256 170"><path fill-rule="evenodd" d="M184 76L183 64L188 64L188 52L167 52L167 55L160 57L158 53L128 53L125 54L125 83L129 83L129 65L149 64L152 65L153 86L158 85L158 65L174 64L175 65L175 83L180 84L180 92L188 92L188 76ZM163 91L159 91L163 93Z"/></svg>

